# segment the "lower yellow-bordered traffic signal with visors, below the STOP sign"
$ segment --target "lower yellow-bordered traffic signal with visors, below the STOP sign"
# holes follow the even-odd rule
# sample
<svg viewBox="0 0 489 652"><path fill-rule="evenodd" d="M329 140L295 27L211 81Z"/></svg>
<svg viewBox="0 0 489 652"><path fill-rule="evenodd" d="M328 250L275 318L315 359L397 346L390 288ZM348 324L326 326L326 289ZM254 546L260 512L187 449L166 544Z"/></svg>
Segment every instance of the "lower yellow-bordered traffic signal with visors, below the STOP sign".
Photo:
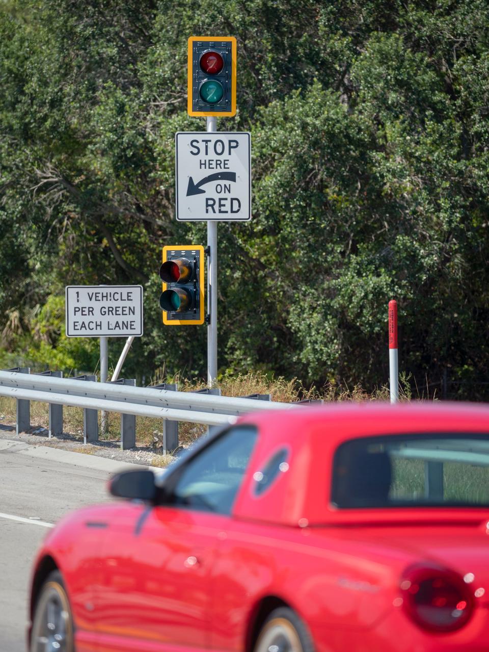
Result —
<svg viewBox="0 0 489 652"><path fill-rule="evenodd" d="M163 247L160 267L163 323L204 323L204 247L200 244Z"/></svg>

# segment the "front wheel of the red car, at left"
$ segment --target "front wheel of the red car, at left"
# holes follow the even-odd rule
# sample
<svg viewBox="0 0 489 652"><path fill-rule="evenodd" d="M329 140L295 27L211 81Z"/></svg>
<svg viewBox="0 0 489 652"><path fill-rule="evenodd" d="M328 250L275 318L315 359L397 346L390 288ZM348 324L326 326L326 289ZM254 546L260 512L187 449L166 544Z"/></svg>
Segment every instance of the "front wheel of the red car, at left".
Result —
<svg viewBox="0 0 489 652"><path fill-rule="evenodd" d="M53 571L36 602L31 652L74 652L73 617L61 573Z"/></svg>

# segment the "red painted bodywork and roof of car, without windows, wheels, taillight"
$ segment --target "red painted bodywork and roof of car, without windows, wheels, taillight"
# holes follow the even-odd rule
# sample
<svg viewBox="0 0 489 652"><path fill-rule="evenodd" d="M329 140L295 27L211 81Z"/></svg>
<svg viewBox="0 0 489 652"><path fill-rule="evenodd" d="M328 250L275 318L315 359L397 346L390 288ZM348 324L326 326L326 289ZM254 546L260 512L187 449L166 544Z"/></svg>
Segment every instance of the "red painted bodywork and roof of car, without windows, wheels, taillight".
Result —
<svg viewBox="0 0 489 652"><path fill-rule="evenodd" d="M274 599L305 621L318 652L487 651L489 509L342 510L329 492L343 441L487 434L489 409L362 404L240 422L259 436L231 516L125 501L74 512L49 533L34 576L46 556L62 572L77 652L241 652ZM282 449L288 471L256 496L253 475ZM420 629L398 606L402 572L420 561L474 574L483 590L462 629Z"/></svg>

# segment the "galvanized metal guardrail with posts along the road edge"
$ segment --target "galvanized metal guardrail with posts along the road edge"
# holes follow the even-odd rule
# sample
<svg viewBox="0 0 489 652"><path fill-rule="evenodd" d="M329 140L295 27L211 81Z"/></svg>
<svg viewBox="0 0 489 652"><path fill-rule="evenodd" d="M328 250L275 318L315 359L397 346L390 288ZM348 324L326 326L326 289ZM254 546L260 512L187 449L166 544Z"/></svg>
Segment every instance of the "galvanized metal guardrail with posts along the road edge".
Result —
<svg viewBox="0 0 489 652"><path fill-rule="evenodd" d="M122 449L135 446L135 421L124 420L124 415L163 419L163 448L168 452L178 447L178 429L175 422L189 421L207 426L221 426L231 424L236 421L237 416L251 411L296 407L290 403L257 400L258 396L234 398L214 393L179 392L176 391L176 386L172 385L135 387L134 382L122 379L117 383L98 383L94 376L58 378L51 374L31 374L29 368L16 368L0 371L0 396L17 400L17 432L23 432L30 427L29 401L47 402L49 406L83 408L84 443L98 441L96 411L118 412L121 415ZM51 423L51 415L55 415L55 425ZM53 411L50 408L49 417L51 437L55 430L60 432L60 422L61 430L63 429L63 413L61 411L60 414L59 409ZM171 424L175 427L172 428Z"/></svg>

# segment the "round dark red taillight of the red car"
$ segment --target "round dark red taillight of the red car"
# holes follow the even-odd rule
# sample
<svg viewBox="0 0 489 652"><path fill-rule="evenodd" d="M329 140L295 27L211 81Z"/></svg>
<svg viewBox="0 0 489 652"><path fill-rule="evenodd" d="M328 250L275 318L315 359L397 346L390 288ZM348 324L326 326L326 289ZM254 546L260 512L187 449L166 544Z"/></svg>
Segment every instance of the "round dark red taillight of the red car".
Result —
<svg viewBox="0 0 489 652"><path fill-rule="evenodd" d="M462 577L435 565L416 565L404 572L402 606L419 627L453 632L471 618L473 596Z"/></svg>

